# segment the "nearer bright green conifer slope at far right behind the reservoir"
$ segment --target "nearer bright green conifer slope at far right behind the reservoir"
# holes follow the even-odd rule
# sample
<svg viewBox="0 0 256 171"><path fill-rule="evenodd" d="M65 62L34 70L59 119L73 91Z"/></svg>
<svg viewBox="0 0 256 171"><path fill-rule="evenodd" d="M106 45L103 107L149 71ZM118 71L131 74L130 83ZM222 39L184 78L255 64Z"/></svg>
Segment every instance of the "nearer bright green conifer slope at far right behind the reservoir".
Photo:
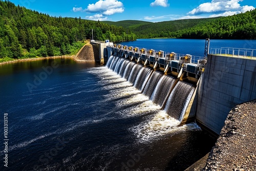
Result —
<svg viewBox="0 0 256 171"><path fill-rule="evenodd" d="M178 38L256 39L256 10L221 17L170 35Z"/></svg>

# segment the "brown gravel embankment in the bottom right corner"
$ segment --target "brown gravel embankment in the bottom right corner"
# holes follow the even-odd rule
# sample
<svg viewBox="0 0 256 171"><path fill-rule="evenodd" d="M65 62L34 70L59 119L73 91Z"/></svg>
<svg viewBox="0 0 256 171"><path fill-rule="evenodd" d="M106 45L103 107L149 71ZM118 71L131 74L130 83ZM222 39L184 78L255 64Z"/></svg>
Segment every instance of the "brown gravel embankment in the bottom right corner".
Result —
<svg viewBox="0 0 256 171"><path fill-rule="evenodd" d="M256 170L256 100L233 108L203 170Z"/></svg>

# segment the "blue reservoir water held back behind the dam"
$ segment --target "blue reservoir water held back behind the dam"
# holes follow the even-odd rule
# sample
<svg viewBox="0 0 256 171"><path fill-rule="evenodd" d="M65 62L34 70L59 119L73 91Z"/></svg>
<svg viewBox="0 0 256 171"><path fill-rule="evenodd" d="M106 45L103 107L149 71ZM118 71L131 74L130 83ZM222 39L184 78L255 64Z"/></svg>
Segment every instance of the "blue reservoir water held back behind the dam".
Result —
<svg viewBox="0 0 256 171"><path fill-rule="evenodd" d="M137 39L136 41L119 42L117 44L133 46L138 48L154 49L156 51L175 52L179 54L190 54L193 56L204 56L205 39L176 39L176 38L156 38ZM256 40L223 40L210 39L210 48L241 48L256 49Z"/></svg>

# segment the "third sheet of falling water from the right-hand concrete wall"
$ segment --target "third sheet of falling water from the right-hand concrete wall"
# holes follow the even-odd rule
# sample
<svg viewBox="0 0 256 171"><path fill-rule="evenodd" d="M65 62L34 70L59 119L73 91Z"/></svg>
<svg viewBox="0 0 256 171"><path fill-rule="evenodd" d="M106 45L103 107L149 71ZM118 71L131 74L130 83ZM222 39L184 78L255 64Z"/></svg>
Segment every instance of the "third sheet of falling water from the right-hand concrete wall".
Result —
<svg viewBox="0 0 256 171"><path fill-rule="evenodd" d="M146 86L143 90L143 94L151 97L152 93L154 92L157 83L159 81L159 79L163 76L163 73L159 72L159 71L155 71L152 73L152 76L150 77L150 79L148 79Z"/></svg>

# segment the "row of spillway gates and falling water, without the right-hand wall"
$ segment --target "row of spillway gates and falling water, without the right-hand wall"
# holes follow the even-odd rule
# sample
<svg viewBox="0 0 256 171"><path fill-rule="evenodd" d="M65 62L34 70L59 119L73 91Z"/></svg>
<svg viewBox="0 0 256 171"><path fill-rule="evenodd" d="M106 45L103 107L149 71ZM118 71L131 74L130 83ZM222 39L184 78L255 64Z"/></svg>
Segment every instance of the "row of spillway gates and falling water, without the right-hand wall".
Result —
<svg viewBox="0 0 256 171"><path fill-rule="evenodd" d="M196 59L189 54L121 45L109 46L107 51L106 67L131 82L161 110L180 121L180 125L195 120L195 106L192 104L205 58L193 63L192 60Z"/></svg>

